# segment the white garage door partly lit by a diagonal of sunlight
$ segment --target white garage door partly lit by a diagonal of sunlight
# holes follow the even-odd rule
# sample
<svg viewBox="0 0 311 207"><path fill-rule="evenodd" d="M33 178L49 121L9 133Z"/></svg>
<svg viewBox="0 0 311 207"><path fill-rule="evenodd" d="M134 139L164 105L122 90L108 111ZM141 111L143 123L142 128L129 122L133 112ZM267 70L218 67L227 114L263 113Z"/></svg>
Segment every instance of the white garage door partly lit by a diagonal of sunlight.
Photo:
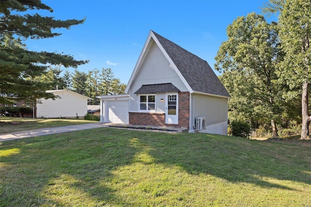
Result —
<svg viewBox="0 0 311 207"><path fill-rule="evenodd" d="M128 101L106 101L108 119L113 123L128 124Z"/></svg>

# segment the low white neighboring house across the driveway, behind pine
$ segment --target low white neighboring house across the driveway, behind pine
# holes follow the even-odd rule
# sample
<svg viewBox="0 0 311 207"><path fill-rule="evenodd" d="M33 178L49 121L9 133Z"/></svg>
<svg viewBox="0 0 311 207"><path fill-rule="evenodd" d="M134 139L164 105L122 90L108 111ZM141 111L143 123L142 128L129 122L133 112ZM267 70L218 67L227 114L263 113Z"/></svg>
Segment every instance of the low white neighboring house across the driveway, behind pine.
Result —
<svg viewBox="0 0 311 207"><path fill-rule="evenodd" d="M47 90L59 98L39 99L36 104L37 118L76 118L87 114L87 101L93 100L68 89ZM41 104L40 104L41 103Z"/></svg>

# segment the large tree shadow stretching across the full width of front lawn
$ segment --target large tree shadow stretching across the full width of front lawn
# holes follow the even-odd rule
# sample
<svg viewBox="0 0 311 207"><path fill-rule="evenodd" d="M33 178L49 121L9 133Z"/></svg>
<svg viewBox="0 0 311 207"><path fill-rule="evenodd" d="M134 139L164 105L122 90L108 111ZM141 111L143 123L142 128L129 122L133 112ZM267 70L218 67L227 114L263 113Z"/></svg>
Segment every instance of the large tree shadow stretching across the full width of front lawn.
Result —
<svg viewBox="0 0 311 207"><path fill-rule="evenodd" d="M148 153L155 164L178 166L190 174L211 174L233 183L293 190L262 179L272 177L311 184L310 147L217 135L108 128L76 134L2 144L0 150L19 148L19 153L0 156L4 166L0 203L68 206L62 193L73 193L77 196L76 205L81 205L79 199L89 199L93 206L133 206L113 188L121 182L114 180L113 172L133 164L141 152ZM59 188L68 191L61 192Z"/></svg>

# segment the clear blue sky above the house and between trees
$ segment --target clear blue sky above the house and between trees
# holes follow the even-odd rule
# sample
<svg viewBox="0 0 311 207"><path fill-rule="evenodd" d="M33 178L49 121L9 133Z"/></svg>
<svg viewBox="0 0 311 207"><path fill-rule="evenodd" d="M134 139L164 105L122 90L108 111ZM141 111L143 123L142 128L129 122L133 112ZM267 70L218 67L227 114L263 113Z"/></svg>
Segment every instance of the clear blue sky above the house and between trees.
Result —
<svg viewBox="0 0 311 207"><path fill-rule="evenodd" d="M42 2L52 7L53 13L38 11L39 14L61 20L86 17L86 21L69 30L55 30L62 33L58 37L26 40L29 50L64 52L77 60L89 60L78 70L111 68L115 77L127 84L150 30L207 60L213 68L214 57L227 39L227 26L237 17L251 12L261 13L259 7L268 0Z"/></svg>

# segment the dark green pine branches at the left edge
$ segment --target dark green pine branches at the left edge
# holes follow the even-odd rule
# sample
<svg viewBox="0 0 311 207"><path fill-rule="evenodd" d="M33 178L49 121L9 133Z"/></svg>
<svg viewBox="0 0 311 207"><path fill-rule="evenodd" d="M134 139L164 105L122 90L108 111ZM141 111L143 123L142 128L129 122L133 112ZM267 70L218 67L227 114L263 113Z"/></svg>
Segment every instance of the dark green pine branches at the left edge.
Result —
<svg viewBox="0 0 311 207"><path fill-rule="evenodd" d="M56 52L29 51L23 40L27 38L52 38L61 35L53 32L57 28L69 29L82 24L85 19L56 20L27 11L52 8L41 0L1 0L0 3L0 102L16 99L54 98L46 93L49 84L36 77L44 74L51 65L73 67L87 63L73 56Z"/></svg>

